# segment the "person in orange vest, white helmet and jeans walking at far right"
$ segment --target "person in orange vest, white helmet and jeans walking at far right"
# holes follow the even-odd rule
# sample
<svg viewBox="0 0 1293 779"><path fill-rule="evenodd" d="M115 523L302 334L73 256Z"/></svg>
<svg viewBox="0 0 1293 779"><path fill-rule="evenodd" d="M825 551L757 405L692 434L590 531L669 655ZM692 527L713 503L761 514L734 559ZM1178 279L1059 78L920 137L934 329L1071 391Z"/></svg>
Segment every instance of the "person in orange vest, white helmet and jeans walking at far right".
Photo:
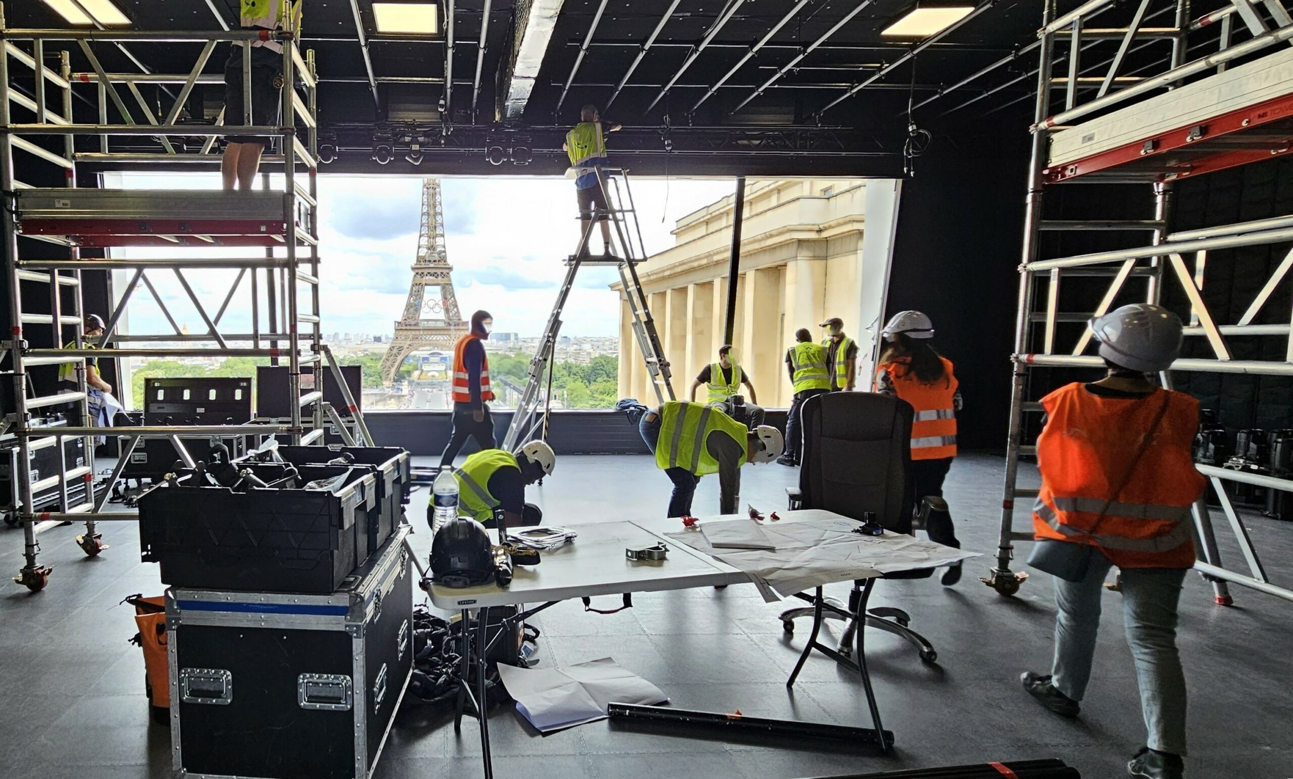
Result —
<svg viewBox="0 0 1293 779"><path fill-rule="evenodd" d="M1205 484L1191 460L1199 402L1159 389L1147 376L1165 371L1181 351L1175 314L1134 304L1090 327L1108 373L1042 398L1047 421L1037 439L1042 487L1033 532L1040 544L1055 546L1038 546L1033 557L1045 553L1053 568L1063 558L1065 579L1055 577L1051 673L1025 672L1020 681L1053 712L1078 714L1100 624L1102 584L1117 566L1148 730L1127 771L1181 779L1186 680L1177 652L1177 602L1195 563L1190 506Z"/></svg>

